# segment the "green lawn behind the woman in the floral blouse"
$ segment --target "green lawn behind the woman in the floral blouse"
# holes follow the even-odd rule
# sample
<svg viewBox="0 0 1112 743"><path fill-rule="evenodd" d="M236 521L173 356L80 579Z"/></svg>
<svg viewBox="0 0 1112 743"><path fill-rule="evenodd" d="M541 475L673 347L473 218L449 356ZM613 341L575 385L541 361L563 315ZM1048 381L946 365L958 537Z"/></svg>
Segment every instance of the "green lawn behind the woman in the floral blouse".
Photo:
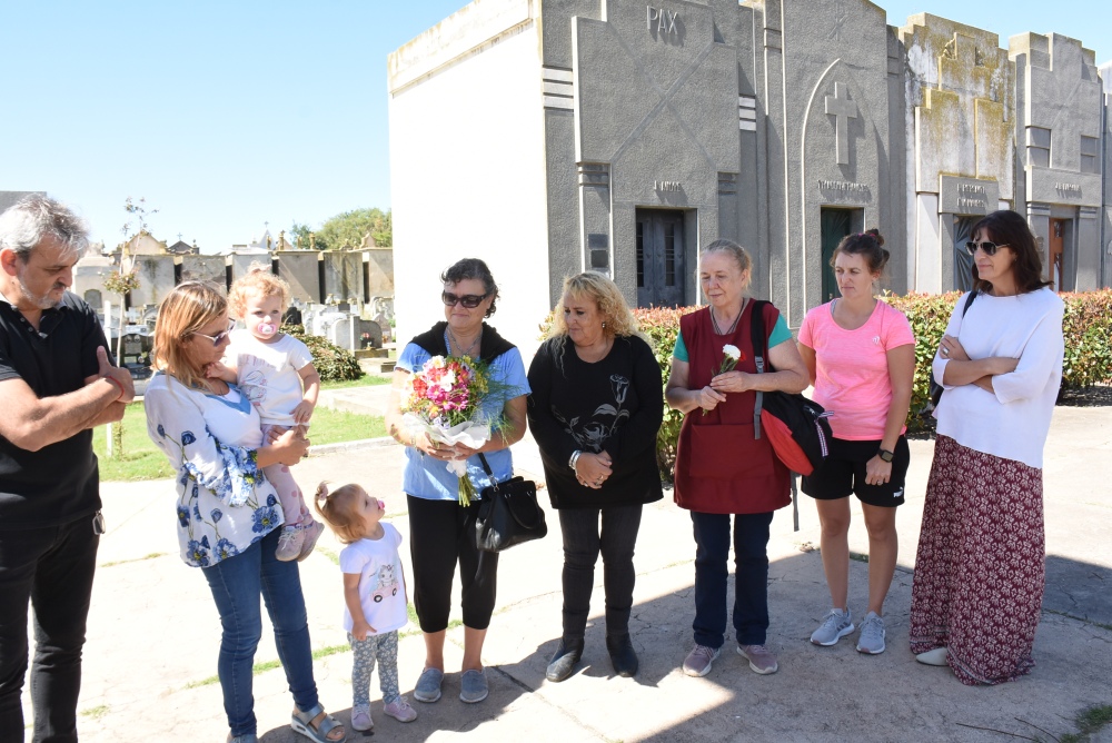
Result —
<svg viewBox="0 0 1112 743"><path fill-rule="evenodd" d="M318 407L312 414L309 439L314 444L354 442L386 436L386 423L379 416L342 413ZM108 426L92 432L92 449L100 459L101 482L136 482L172 477L173 470L155 443L147 436L147 414L142 403L128 405L123 413L123 456L109 458Z"/></svg>

